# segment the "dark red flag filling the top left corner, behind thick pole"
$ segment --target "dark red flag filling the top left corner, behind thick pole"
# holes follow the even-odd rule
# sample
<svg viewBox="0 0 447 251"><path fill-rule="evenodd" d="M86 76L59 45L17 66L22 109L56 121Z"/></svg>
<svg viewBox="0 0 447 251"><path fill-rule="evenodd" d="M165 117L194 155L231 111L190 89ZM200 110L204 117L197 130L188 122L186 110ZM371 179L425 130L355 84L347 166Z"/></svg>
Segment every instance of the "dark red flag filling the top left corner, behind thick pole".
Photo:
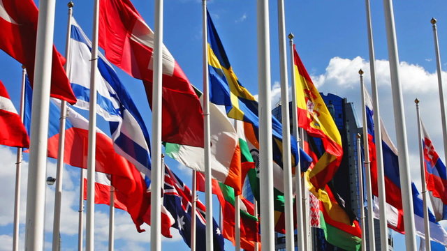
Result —
<svg viewBox="0 0 447 251"><path fill-rule="evenodd" d="M38 8L34 1L0 1L0 49L22 63L31 79L34 79L37 20ZM53 45L50 95L74 104L76 98L63 67L64 61Z"/></svg>

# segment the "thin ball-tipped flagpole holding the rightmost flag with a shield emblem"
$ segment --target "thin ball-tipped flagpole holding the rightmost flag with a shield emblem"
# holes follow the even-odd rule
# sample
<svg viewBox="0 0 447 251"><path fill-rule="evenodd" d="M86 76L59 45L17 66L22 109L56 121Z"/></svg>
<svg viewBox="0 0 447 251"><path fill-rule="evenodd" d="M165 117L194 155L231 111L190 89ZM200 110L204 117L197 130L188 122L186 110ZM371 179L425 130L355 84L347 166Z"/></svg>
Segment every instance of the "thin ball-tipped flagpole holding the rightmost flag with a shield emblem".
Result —
<svg viewBox="0 0 447 251"><path fill-rule="evenodd" d="M425 162L424 162L424 149L423 149L423 135L422 135L422 121L419 114L419 100L414 100L416 103L416 116L418 120L418 140L419 140L419 160L420 160L420 183L422 183L422 198L424 207L424 229L425 229L425 250L432 250L430 246L430 221L428 218L428 206L427 206L427 183L425 183Z"/></svg>

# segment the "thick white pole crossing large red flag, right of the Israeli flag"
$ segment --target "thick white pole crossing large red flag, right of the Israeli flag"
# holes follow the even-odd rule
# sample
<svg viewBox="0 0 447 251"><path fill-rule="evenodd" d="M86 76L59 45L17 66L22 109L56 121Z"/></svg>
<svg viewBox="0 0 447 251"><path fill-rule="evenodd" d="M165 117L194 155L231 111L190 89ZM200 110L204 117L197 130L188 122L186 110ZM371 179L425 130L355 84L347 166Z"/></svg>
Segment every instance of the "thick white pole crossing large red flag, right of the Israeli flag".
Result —
<svg viewBox="0 0 447 251"><path fill-rule="evenodd" d="M163 74L163 0L155 1L154 84L152 85L151 250L161 250L161 92Z"/></svg>

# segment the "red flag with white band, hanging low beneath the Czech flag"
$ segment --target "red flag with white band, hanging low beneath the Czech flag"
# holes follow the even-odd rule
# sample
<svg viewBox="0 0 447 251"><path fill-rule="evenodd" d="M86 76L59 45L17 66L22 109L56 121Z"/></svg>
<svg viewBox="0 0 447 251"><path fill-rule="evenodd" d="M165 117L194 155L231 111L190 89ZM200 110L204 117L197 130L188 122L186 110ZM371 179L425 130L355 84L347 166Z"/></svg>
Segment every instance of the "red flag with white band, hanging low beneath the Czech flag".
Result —
<svg viewBox="0 0 447 251"><path fill-rule="evenodd" d="M133 169L135 176L136 187L131 194L125 194L117 188L114 188L114 206L124 210L131 215L131 218L137 219L136 221L143 219L148 225L150 225L150 193L147 192L146 184L142 176ZM82 172L87 173L86 170ZM85 175L86 176L86 175ZM105 204L110 206L110 188L112 183L119 182L119 176L111 176L110 174L103 174L100 172L95 173L95 204ZM84 178L84 199L87 199L87 178ZM146 211L144 211L146 210ZM135 220L134 220L135 222ZM170 227L174 224L174 218L166 210L164 206L161 207L161 234L167 238L172 238L170 234Z"/></svg>

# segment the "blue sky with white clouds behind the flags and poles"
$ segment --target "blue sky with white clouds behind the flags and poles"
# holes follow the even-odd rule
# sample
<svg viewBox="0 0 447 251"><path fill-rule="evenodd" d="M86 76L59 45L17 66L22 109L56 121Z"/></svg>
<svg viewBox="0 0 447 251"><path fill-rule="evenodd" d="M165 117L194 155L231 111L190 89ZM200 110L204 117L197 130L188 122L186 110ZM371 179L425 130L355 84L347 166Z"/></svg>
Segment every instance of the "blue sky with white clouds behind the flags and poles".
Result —
<svg viewBox="0 0 447 251"><path fill-rule="evenodd" d="M37 3L37 2L36 2ZM147 24L154 25L154 1L133 0L133 4L145 18ZM87 36L91 37L91 17L93 1L75 1L74 16ZM319 91L332 92L354 102L360 112L360 89L358 70L365 71L365 82L369 85L369 58L367 47L367 29L365 20L365 3L363 1L286 1L286 33L295 34L298 53L309 74L312 75ZM240 82L254 95L258 93L257 80L257 44L256 44L256 1L212 0L208 7L219 36L223 42L228 58L240 79ZM436 64L434 63L434 46L430 19L438 19L439 46L441 63L446 67L447 60L447 19L445 10L447 2L433 1L395 1L395 24L397 45L401 63L401 84L404 91L406 112L406 129L408 132L411 177L420 186L417 151L416 112L413 107L414 98L420 98L421 116L425 121L434 146L442 159L443 146L441 140L441 122L439 118L439 96L437 93ZM59 52L64 54L66 36L66 1L57 1L54 44ZM164 5L164 43L173 54L187 77L199 89L202 89L202 23L200 0L170 0ZM386 31L381 1L372 1L372 21L374 43L377 61L377 79L381 100L381 113L392 139L395 139L393 109L390 109L390 80L388 70L388 49L386 46ZM272 105L279 100L279 59L277 35L277 2L270 1L270 45L272 66ZM442 61L444 59L444 61ZM18 107L20 96L20 64L7 54L0 52L0 80L6 85L13 102ZM115 68L126 87L131 92L140 112L150 128L150 111L142 83L121 70ZM446 75L444 75L444 81ZM360 115L360 114L359 114ZM360 118L360 116L359 116ZM359 121L361 123L361 121ZM101 123L100 123L101 125ZM108 128L103 128L108 132ZM7 201L6 208L0 208L0 240L10 243L12 238L13 190L14 176L13 149L1 148L2 164L0 181L8 192L0 195L1 201ZM25 156L27 159L27 156ZM54 162L48 166L48 174L55 176ZM168 160L170 165L184 182L189 184L191 172L174 160ZM8 168L6 168L8 166ZM25 168L26 169L26 168ZM78 169L67 167L64 178L66 190L64 209L66 217L62 225L62 245L64 250L76 248L75 218L77 209ZM26 177L26 172L23 176ZM22 180L23 184L26 184ZM26 185L22 188L25 189ZM52 211L54 188L47 189L47 211ZM22 192L22 198L26 193ZM23 200L24 201L24 200ZM217 203L217 200L215 200ZM22 209L24 203L22 203ZM96 206L100 211L97 215L97 245L98 250L107 245L107 213L105 206ZM217 207L214 207L217 218ZM47 215L52 215L48 213ZM71 217L73 216L73 217ZM47 217L45 231L46 248L50 249L52 220ZM24 210L22 210L24 222ZM142 250L149 247L149 234L138 234L134 231L130 218L124 212L117 213L117 250ZM444 226L447 226L444 224ZM149 227L146 227L149 229ZM21 225L22 237L24 225ZM133 233L134 231L134 233ZM176 230L173 229L173 233ZM404 240L400 234L394 234L395 248L404 248ZM5 246L9 250L10 245ZM177 235L172 241L163 238L163 248L166 250L188 250L182 239ZM226 243L228 250L233 250ZM2 250L2 248L0 248Z"/></svg>

